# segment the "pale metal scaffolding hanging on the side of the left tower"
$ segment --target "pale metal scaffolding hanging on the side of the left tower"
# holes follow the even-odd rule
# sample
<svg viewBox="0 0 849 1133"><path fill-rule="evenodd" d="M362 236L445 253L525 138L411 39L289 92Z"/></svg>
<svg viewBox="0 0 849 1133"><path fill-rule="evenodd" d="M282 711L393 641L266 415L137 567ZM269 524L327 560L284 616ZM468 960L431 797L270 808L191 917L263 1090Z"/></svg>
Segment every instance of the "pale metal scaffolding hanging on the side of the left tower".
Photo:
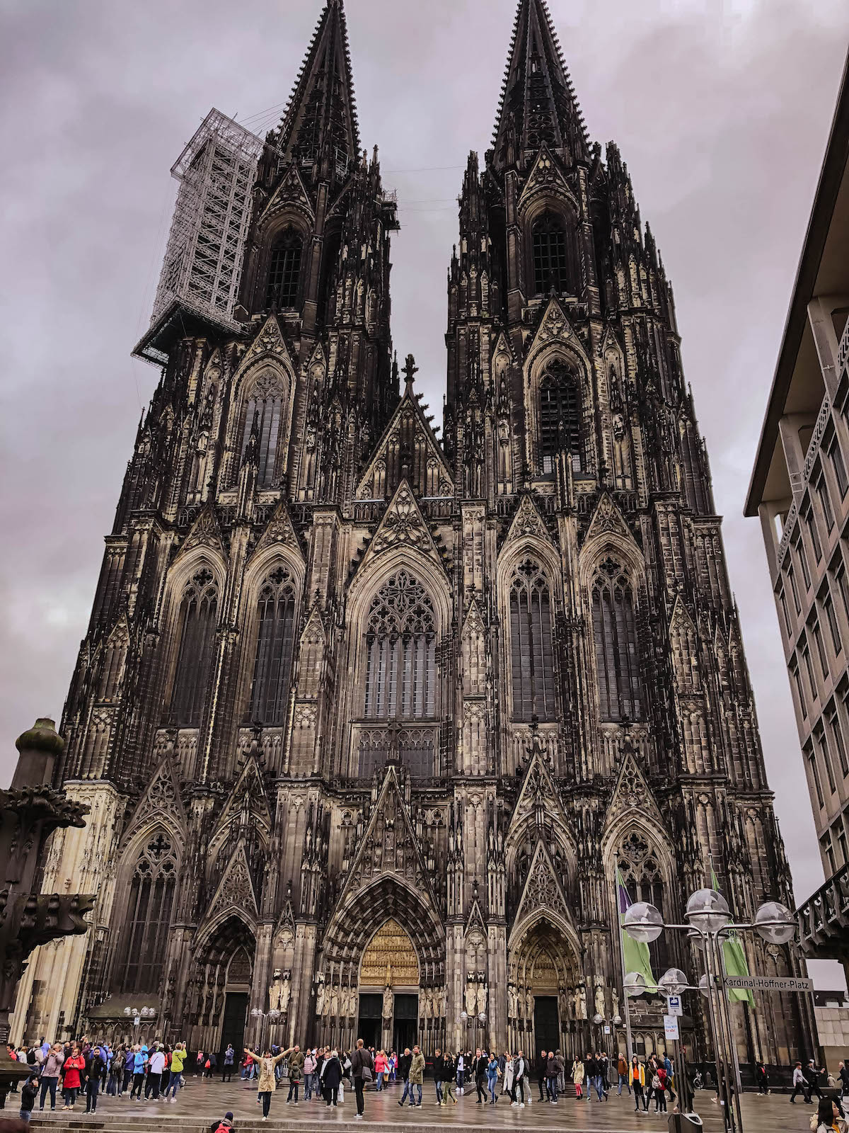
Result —
<svg viewBox="0 0 849 1133"><path fill-rule="evenodd" d="M180 188L151 326L135 356L163 365L175 338L198 323L241 330L234 310L264 145L213 109L171 167Z"/></svg>

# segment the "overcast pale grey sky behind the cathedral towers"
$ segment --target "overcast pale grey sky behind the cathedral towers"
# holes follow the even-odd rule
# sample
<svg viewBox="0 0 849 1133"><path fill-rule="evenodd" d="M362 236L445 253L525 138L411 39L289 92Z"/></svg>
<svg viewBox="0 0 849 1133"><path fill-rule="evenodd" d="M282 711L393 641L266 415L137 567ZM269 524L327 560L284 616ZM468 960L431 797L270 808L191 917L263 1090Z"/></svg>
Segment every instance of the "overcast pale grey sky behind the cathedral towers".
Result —
<svg viewBox="0 0 849 1133"><path fill-rule="evenodd" d="M741 509L849 40L846 0L549 0L591 137L615 138L675 286L797 897L822 881L766 563ZM142 407L175 182L215 105L284 103L319 0L0 0L0 781L59 719ZM363 145L397 188L393 335L441 419L470 148L514 0L348 0ZM278 110L251 118L273 125Z"/></svg>

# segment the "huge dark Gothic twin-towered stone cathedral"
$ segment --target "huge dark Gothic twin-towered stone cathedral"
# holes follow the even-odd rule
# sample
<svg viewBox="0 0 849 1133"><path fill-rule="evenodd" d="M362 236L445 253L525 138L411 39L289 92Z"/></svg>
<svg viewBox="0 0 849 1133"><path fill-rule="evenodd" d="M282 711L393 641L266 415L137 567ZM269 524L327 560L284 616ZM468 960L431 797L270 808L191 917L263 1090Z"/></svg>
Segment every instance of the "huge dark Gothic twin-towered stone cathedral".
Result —
<svg viewBox="0 0 849 1133"><path fill-rule="evenodd" d="M137 348L161 381L61 726L91 813L43 885L96 893L93 928L38 949L12 1034L624 1049L617 869L672 922L711 868L738 921L792 905L627 167L521 0L446 249L438 437L393 352L396 203L341 0L252 155L217 121L180 167ZM745 947L803 972L792 945ZM679 935L651 952L655 976L702 970ZM741 1063L814 1049L803 997L732 1015ZM637 1053L662 1048L661 1000L631 1016Z"/></svg>

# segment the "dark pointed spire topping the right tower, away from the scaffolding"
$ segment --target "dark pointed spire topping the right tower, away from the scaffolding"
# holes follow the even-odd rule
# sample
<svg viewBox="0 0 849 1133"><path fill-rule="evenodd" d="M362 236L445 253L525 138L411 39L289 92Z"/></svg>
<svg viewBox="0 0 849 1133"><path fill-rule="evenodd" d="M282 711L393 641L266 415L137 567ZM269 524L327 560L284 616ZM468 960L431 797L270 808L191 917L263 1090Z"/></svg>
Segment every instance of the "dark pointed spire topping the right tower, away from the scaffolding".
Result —
<svg viewBox="0 0 849 1133"><path fill-rule="evenodd" d="M544 0L520 0L492 145L496 169L548 145L561 159L589 161L590 145L572 79Z"/></svg>

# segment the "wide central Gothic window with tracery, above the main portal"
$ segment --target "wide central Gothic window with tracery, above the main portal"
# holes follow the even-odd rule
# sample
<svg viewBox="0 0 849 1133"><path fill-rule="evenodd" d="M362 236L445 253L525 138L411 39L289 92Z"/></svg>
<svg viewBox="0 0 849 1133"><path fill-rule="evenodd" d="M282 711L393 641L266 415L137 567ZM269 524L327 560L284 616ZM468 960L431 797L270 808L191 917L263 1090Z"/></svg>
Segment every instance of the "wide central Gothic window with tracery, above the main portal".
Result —
<svg viewBox="0 0 849 1133"><path fill-rule="evenodd" d="M366 629L366 718L430 719L436 620L424 587L398 570L371 599Z"/></svg>

